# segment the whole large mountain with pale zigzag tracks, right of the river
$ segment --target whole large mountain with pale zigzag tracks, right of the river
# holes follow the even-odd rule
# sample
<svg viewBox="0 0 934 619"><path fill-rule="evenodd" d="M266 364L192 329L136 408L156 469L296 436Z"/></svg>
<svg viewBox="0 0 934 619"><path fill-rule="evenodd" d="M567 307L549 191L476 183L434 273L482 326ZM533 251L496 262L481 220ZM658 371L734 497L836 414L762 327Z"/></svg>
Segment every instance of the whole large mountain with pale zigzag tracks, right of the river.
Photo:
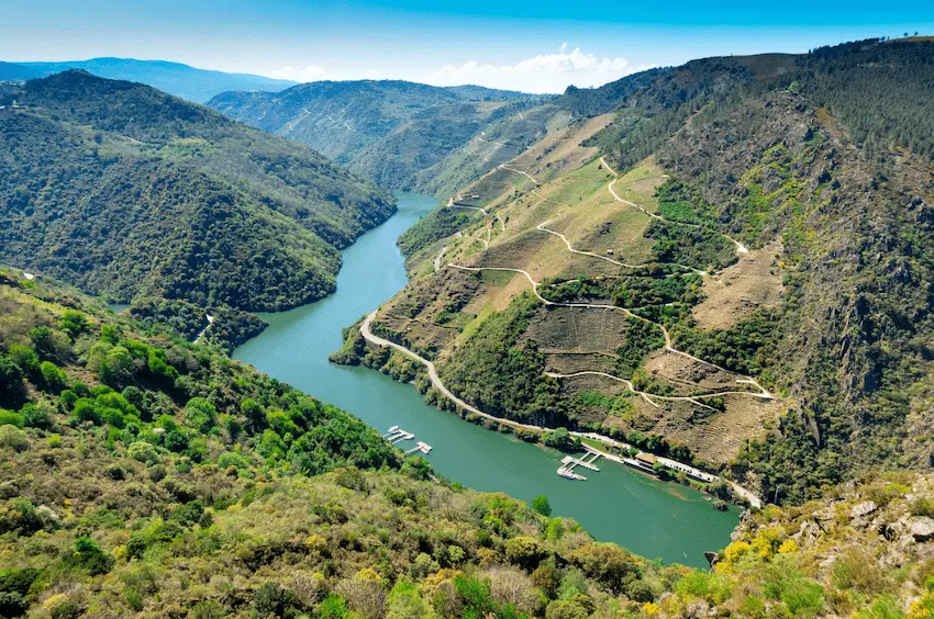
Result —
<svg viewBox="0 0 934 619"><path fill-rule="evenodd" d="M570 89L548 102L567 123L400 238L413 279L371 330L485 414L677 453L770 502L929 468L932 95L925 38ZM400 354L363 345L348 330L337 358Z"/></svg>

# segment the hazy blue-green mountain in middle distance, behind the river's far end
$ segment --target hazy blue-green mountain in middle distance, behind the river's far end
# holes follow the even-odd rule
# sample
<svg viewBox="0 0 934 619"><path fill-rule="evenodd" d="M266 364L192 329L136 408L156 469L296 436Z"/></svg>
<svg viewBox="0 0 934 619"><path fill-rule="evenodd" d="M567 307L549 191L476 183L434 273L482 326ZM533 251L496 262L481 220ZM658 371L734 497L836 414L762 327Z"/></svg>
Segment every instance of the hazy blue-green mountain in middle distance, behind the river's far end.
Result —
<svg viewBox="0 0 934 619"><path fill-rule="evenodd" d="M479 148L481 164L494 166L486 151L504 146L492 127L504 119L518 121L549 99L476 86L364 80L318 81L278 93L225 92L208 105L308 144L380 187L424 190L419 178L435 176L429 170L453 153ZM501 159L497 154L494 160Z"/></svg>

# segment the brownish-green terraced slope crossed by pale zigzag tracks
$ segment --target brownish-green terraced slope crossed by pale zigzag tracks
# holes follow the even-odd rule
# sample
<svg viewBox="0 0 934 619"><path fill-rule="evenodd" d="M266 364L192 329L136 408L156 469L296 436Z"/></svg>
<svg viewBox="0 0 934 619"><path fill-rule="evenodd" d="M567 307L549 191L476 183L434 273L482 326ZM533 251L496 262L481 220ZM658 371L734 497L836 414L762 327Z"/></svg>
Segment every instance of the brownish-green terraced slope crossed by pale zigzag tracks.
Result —
<svg viewBox="0 0 934 619"><path fill-rule="evenodd" d="M535 351L526 360L535 365L535 389L551 385L564 402L565 420L557 421L660 435L687 443L701 461L725 463L778 416L781 397L754 376L679 349L669 327L690 319L709 291L742 289L746 278L738 266L714 271L715 260L660 255L653 226L701 227L659 214L656 193L668 176L654 160L618 175L596 149L580 145L607 122L596 117L558 130L463 188L446 209L467 213L469 223L412 258L415 279L380 308L374 331L434 360L442 380L459 393L466 378L456 368L485 323L525 303L514 345ZM732 261L765 260L761 250L749 252L725 233L702 232L732 248ZM744 313L740 300L716 299L718 314ZM491 404L463 396L481 410ZM522 410L490 412L529 424L546 420Z"/></svg>

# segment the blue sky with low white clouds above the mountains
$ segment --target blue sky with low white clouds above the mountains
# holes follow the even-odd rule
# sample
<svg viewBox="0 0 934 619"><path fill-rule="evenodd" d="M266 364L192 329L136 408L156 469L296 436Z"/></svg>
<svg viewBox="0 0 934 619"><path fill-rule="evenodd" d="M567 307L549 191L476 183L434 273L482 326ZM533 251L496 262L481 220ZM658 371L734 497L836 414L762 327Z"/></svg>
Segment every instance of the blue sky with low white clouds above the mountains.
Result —
<svg viewBox="0 0 934 619"><path fill-rule="evenodd" d="M164 59L290 79L527 92L692 58L934 34L934 2L787 0L29 0L0 3L0 60Z"/></svg>

